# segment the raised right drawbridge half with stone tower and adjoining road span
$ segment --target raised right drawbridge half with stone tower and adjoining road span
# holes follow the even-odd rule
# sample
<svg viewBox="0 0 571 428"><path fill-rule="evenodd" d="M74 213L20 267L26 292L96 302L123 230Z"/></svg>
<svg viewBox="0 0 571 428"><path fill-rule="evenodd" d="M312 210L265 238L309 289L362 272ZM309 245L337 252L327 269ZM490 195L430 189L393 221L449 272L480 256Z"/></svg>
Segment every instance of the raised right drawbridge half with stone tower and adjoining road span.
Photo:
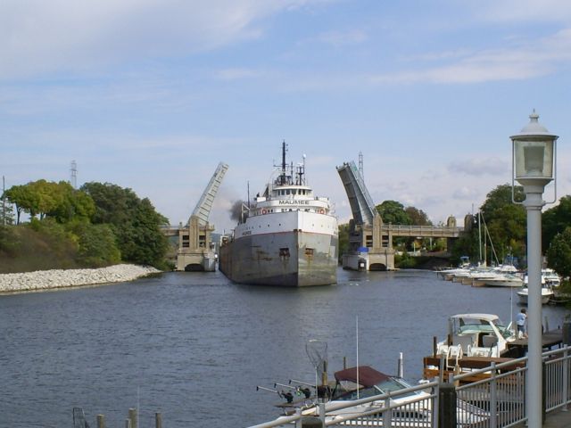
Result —
<svg viewBox="0 0 571 428"><path fill-rule="evenodd" d="M446 226L385 225L368 193L365 180L355 162L345 162L337 172L352 210L349 222L349 251L343 254L343 268L353 270L391 270L394 268L394 236L458 238L463 229L456 218Z"/></svg>

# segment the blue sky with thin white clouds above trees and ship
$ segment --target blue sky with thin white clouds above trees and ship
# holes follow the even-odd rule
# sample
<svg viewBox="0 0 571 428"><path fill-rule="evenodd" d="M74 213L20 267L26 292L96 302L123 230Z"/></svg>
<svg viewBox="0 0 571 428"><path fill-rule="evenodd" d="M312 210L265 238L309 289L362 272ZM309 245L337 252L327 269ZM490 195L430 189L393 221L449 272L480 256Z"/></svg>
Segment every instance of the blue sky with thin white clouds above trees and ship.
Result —
<svg viewBox="0 0 571 428"><path fill-rule="evenodd" d="M567 0L3 0L0 175L101 182L187 219L219 161L211 223L263 191L288 144L351 218L335 169L434 224L511 183L537 111L571 193Z"/></svg>

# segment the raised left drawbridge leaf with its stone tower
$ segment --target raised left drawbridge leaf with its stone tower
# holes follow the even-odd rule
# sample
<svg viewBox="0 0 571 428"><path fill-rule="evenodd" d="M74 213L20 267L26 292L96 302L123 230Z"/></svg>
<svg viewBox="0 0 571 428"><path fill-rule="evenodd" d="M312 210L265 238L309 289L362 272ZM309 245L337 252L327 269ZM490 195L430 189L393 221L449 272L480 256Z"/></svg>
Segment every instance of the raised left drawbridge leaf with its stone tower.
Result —
<svg viewBox="0 0 571 428"><path fill-rule="evenodd" d="M208 218L211 214L214 198L227 170L228 165L219 162L186 225L183 226L181 222L178 227L165 229L165 235L178 236L177 270L205 272L216 270L218 255L216 243L213 243L211 239L214 226L209 223Z"/></svg>

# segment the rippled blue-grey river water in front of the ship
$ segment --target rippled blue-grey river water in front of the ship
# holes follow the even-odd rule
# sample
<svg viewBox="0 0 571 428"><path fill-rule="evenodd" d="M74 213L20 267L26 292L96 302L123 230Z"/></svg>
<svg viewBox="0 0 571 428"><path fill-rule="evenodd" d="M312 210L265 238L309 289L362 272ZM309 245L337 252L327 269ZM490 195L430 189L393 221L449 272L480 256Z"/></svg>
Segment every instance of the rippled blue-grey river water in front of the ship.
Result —
<svg viewBox="0 0 571 428"><path fill-rule="evenodd" d="M338 284L280 289L230 283L221 273L166 273L132 283L0 296L0 427L71 427L72 408L123 427L247 426L278 415L276 394L312 382L306 354L327 342L330 374L367 364L416 382L433 336L451 314L509 322L516 292L472 288L429 271L349 272ZM550 328L565 309L543 307ZM358 330L356 325L359 326ZM358 334L357 334L358 331ZM357 337L359 340L357 340ZM358 346L357 346L358 345Z"/></svg>

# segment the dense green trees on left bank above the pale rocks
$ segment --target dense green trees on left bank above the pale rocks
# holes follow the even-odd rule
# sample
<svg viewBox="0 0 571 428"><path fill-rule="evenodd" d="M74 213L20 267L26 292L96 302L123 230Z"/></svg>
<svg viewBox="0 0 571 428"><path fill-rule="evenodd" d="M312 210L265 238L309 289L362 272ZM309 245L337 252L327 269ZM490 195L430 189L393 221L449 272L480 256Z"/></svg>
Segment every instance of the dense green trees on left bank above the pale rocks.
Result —
<svg viewBox="0 0 571 428"><path fill-rule="evenodd" d="M68 182L41 179L10 187L2 202L0 259L25 258L26 240L36 236L48 245L36 251L46 256L59 251L79 267L119 262L166 267L168 243L161 226L168 219L129 188L92 182L74 189ZM29 221L22 222L24 215Z"/></svg>

